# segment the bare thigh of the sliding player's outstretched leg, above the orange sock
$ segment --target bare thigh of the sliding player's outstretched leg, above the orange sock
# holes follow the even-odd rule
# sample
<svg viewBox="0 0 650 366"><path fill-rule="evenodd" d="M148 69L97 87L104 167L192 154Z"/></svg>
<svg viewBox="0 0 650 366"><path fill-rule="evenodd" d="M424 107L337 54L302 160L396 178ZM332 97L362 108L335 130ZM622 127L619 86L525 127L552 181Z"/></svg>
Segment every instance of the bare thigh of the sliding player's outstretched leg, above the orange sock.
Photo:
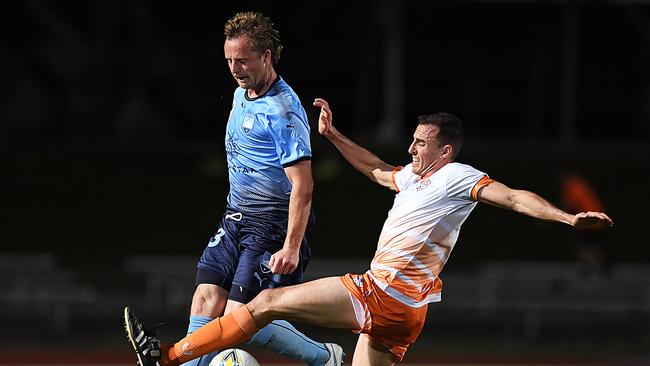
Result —
<svg viewBox="0 0 650 366"><path fill-rule="evenodd" d="M338 277L264 291L249 304L264 321L286 319L328 328L358 328L350 293Z"/></svg>

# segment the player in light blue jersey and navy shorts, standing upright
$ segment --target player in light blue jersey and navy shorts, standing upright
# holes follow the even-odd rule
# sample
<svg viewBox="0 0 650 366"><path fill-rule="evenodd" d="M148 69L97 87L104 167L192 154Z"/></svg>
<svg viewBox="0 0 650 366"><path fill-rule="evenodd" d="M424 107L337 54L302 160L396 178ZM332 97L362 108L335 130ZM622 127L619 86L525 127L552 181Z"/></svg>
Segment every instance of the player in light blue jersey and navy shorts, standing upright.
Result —
<svg viewBox="0 0 650 366"><path fill-rule="evenodd" d="M302 282L310 258L310 128L298 96L275 71L280 35L268 17L253 12L229 19L224 34L225 59L239 85L225 138L230 192L197 266L188 333L264 289ZM338 365L343 353L286 321L269 324L251 343L308 365Z"/></svg>

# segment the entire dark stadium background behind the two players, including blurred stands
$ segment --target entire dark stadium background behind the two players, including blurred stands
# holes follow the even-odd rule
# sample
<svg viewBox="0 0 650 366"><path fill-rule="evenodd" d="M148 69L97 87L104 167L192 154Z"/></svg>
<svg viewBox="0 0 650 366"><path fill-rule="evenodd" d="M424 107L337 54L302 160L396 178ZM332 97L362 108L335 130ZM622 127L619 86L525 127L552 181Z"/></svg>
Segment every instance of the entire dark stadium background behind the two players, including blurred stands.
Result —
<svg viewBox="0 0 650 366"><path fill-rule="evenodd" d="M616 222L600 236L605 270L581 277L572 230L477 207L412 362L650 362L648 2L34 0L1 12L0 363L25 362L16 349L79 342L93 353L65 351L62 362L124 357L125 302L181 334L192 261L227 193L235 83L222 29L242 10L274 19L285 46L279 74L312 126L311 101L327 98L344 133L405 164L417 115L451 112L466 128L460 161L555 203L564 174L578 173ZM322 259L313 275L362 270L391 194L312 137L311 242ZM133 270L139 260L170 262L147 277ZM499 277L503 298L540 289L523 305L485 307L472 294L495 268L513 271ZM544 278L531 285L531 273ZM507 287L518 281L522 293ZM576 283L586 285L567 290ZM538 303L555 298L564 300ZM351 351L347 332L311 331Z"/></svg>

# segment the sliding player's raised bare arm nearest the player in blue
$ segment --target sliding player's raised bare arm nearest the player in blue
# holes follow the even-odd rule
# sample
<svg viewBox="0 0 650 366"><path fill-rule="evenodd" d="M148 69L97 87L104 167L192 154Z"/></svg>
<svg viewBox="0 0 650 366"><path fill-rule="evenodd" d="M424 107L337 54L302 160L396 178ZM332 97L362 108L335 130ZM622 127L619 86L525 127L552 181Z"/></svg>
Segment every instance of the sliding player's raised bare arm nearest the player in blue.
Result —
<svg viewBox="0 0 650 366"><path fill-rule="evenodd" d="M393 184L395 167L340 133L332 124L332 110L325 99L316 98L314 106L320 108L318 132L336 146L345 160L373 182L393 190L397 189Z"/></svg>

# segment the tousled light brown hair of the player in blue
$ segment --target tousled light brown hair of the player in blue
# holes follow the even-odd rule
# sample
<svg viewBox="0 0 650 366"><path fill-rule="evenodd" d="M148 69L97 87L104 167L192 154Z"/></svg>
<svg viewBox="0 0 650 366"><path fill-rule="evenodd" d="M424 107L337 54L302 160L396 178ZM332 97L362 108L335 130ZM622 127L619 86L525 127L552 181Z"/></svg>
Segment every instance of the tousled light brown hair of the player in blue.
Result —
<svg viewBox="0 0 650 366"><path fill-rule="evenodd" d="M248 11L235 14L226 22L223 34L226 40L247 37L253 43L255 51L259 53L270 50L273 65L277 65L280 60L282 52L280 32L273 29L271 18L262 13Z"/></svg>

